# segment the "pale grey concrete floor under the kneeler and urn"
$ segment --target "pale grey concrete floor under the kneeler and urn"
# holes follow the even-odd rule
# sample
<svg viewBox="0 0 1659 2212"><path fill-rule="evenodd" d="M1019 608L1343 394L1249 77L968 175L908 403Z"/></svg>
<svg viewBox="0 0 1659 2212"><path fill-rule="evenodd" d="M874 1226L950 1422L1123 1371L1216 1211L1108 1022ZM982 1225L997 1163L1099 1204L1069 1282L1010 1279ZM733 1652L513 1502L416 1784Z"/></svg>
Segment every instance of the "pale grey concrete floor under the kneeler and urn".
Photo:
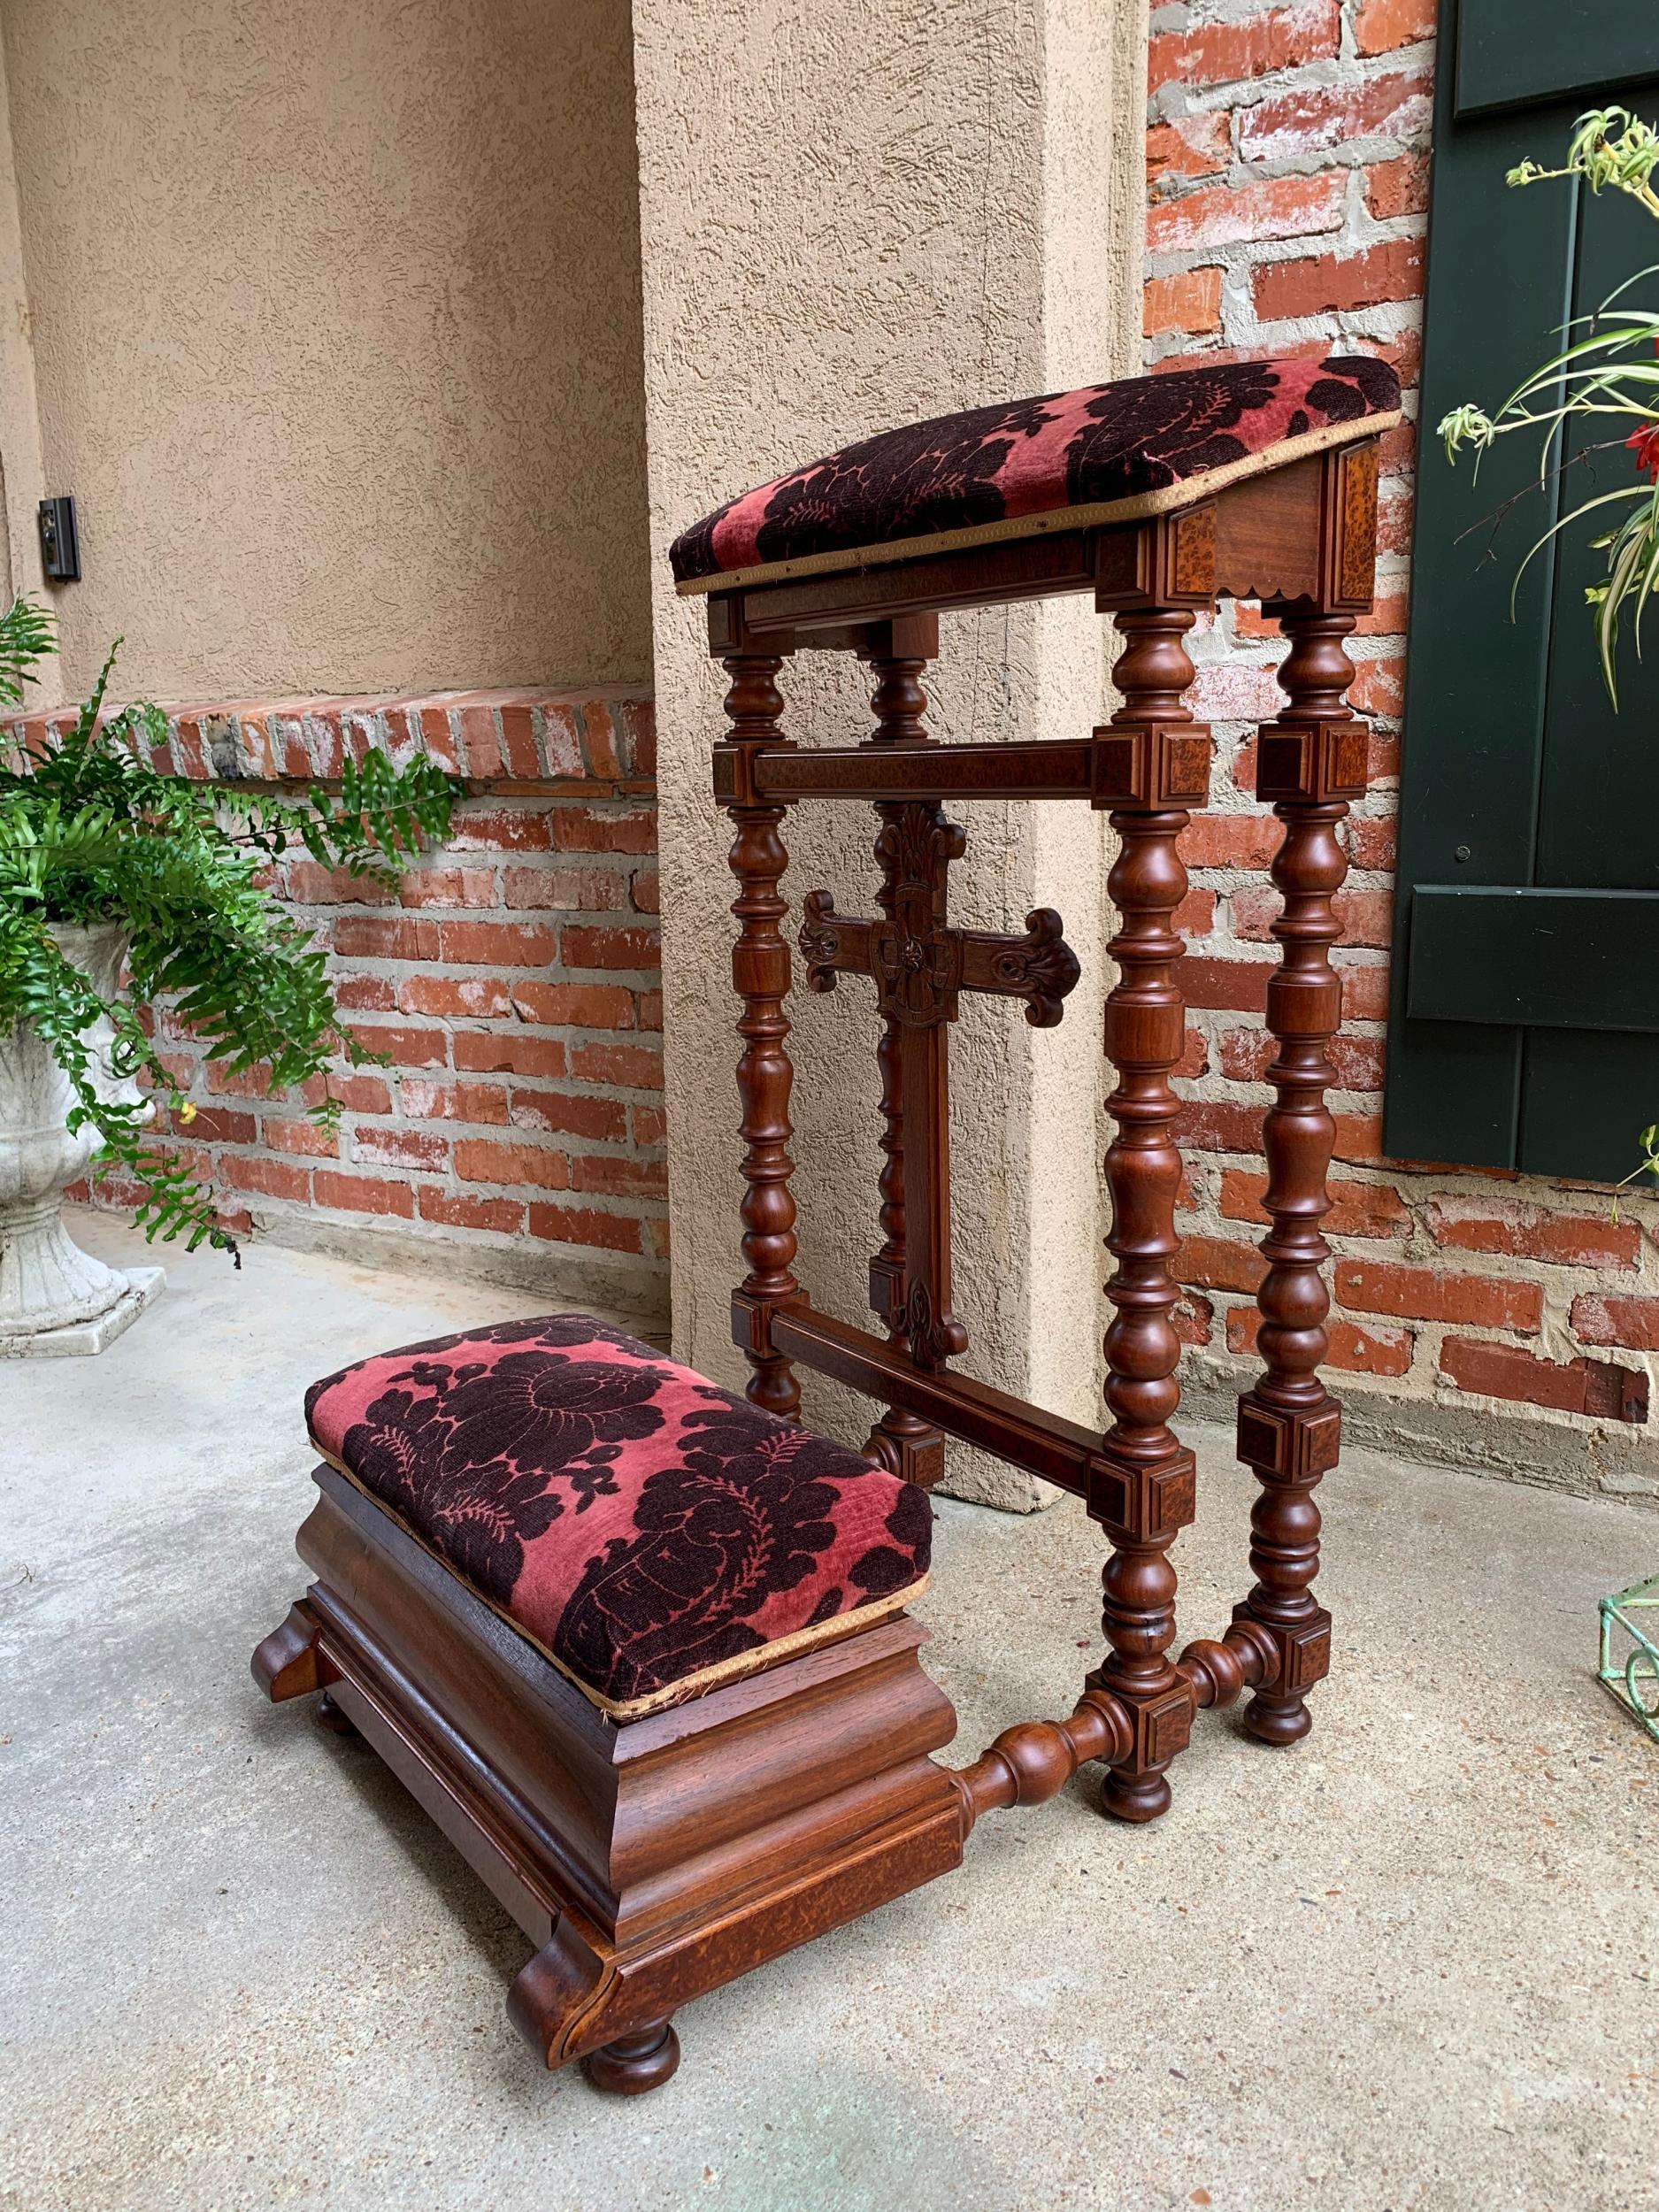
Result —
<svg viewBox="0 0 1659 2212"><path fill-rule="evenodd" d="M1301 1750L1206 1717L1152 1829L1086 1785L987 1816L962 1874L688 2008L639 2104L538 2073L524 1940L361 1743L248 1679L301 1588L303 1383L513 1310L199 1254L102 1358L0 1367L0 2203L1659 2205L1659 1750L1590 1672L1659 1524L1371 1453L1327 1482ZM1183 1635L1243 1586L1248 1486L1197 1442ZM942 1504L953 1756L1068 1710L1097 1562L1071 1504Z"/></svg>

